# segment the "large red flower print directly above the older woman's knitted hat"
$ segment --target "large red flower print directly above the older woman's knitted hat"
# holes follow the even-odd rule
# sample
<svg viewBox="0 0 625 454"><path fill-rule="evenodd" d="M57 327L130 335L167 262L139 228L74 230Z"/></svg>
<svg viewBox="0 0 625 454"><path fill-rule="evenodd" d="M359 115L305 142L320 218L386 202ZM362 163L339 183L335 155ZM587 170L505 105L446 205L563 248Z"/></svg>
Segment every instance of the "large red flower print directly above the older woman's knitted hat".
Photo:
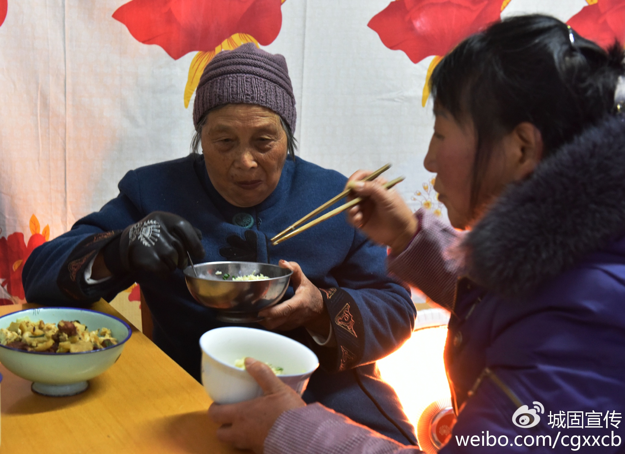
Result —
<svg viewBox="0 0 625 454"><path fill-rule="evenodd" d="M2 0L0 0L2 1ZM281 0L132 0L113 18L144 44L158 44L173 59L214 51L235 33L266 46L282 26Z"/></svg>

